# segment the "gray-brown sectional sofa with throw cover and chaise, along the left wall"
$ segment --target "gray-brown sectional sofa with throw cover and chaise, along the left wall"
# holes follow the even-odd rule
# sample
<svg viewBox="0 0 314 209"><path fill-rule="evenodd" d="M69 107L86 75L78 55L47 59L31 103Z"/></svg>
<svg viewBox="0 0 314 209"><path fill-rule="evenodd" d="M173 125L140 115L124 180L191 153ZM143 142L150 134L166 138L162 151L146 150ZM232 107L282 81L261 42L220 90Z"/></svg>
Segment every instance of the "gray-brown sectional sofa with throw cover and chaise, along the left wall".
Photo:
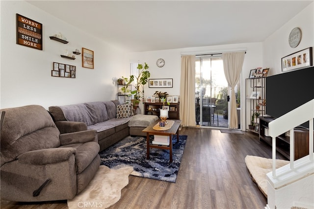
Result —
<svg viewBox="0 0 314 209"><path fill-rule="evenodd" d="M117 118L119 105L127 104L120 104L117 100L89 102L50 106L49 112L61 133L96 130L100 151L103 151L130 133L143 135L141 130L158 119L153 115L132 116L132 108L123 112L127 115Z"/></svg>

